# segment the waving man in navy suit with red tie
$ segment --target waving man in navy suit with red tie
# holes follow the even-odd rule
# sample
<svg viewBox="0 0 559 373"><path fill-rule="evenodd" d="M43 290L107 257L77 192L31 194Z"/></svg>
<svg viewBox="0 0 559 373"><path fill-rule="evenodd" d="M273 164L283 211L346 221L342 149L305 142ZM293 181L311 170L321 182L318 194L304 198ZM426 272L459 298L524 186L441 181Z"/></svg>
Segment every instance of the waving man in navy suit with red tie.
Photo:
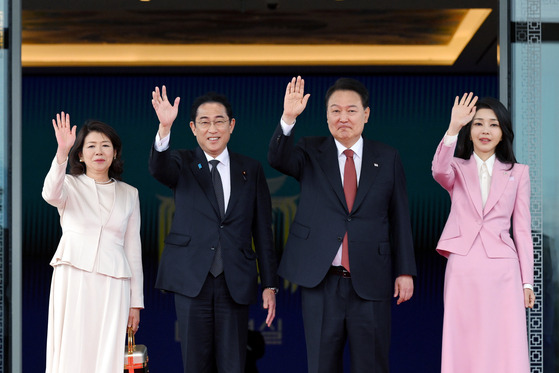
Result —
<svg viewBox="0 0 559 373"><path fill-rule="evenodd" d="M404 170L397 151L362 137L369 94L341 78L326 93L332 136L293 140L309 94L287 85L268 152L301 185L278 273L301 286L309 373L388 372L391 296L413 295L416 274Z"/></svg>

